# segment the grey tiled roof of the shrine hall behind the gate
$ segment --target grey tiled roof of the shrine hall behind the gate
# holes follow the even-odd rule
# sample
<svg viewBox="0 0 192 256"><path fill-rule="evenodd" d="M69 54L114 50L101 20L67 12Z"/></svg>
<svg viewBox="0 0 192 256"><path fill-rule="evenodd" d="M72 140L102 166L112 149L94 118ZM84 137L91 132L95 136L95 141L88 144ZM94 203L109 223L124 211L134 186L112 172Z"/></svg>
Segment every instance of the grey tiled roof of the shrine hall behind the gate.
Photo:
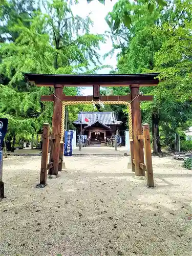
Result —
<svg viewBox="0 0 192 256"><path fill-rule="evenodd" d="M86 117L90 120L91 123L95 123L96 121L105 124L121 124L121 121L118 121L114 112L79 112L78 119L74 121L75 124L80 124L81 116L86 115ZM86 122L82 122L82 124L87 124Z"/></svg>

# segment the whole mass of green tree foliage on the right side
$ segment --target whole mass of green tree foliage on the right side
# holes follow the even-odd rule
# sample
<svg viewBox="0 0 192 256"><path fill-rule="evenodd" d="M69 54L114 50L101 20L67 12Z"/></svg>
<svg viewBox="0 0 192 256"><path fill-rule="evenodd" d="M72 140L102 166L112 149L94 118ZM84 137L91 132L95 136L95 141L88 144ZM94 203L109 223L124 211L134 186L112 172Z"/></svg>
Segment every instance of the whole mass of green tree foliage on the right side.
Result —
<svg viewBox="0 0 192 256"><path fill-rule="evenodd" d="M158 87L141 88L144 94L154 95L154 101L143 102L141 108L143 121L152 121L157 154L161 152L159 129L168 138L191 117L191 1L168 2L164 8L154 7L153 12L143 1L129 8L133 10L131 27L121 24L113 37L114 48L121 50L116 72L161 72ZM114 35L113 28L111 31Z"/></svg>

